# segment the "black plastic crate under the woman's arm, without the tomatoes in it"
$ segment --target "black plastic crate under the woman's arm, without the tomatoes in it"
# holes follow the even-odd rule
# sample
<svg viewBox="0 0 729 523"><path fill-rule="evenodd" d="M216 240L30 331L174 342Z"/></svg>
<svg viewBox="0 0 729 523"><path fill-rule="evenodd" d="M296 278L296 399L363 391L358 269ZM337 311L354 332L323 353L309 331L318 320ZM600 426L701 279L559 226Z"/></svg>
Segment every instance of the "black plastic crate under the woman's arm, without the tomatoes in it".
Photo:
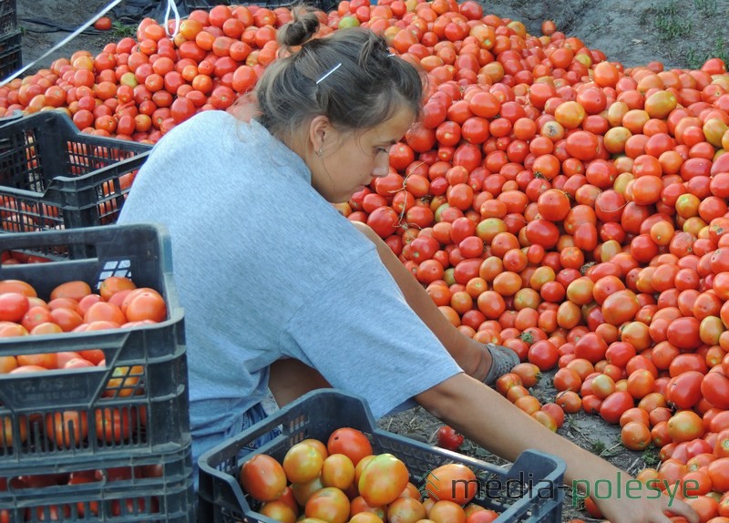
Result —
<svg viewBox="0 0 729 523"><path fill-rule="evenodd" d="M271 518L256 512L258 504L243 493L238 480L241 465L259 453L282 461L294 444L310 437L325 443L336 428L343 426L364 432L375 454L389 452L403 460L410 471L411 482L418 487L424 487L426 475L435 467L447 463L461 463L470 467L476 473L479 485L489 486L479 487L473 501L500 512L496 520L499 523L561 521L564 489L560 486L565 464L560 458L528 450L519 456L512 467L496 467L386 432L375 425L369 408L361 398L328 389L303 395L274 415L200 456L200 523L275 523ZM274 427L282 431L281 436L276 436L252 454L240 457L245 446ZM507 487L512 485L507 483L508 480L524 482L526 492L515 498L513 492L509 496L503 492L495 493L490 488L496 482ZM546 493L551 497L547 497Z"/></svg>

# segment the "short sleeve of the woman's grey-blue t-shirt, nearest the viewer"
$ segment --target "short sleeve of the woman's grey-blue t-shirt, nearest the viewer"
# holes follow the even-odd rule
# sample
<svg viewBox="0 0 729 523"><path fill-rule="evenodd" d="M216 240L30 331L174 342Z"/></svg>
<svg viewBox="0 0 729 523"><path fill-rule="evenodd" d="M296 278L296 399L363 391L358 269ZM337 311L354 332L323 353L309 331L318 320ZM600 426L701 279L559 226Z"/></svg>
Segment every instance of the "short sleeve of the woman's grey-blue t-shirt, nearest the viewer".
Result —
<svg viewBox="0 0 729 523"><path fill-rule="evenodd" d="M407 305L374 246L313 290L283 330L282 350L335 388L363 396L375 417L462 372Z"/></svg>

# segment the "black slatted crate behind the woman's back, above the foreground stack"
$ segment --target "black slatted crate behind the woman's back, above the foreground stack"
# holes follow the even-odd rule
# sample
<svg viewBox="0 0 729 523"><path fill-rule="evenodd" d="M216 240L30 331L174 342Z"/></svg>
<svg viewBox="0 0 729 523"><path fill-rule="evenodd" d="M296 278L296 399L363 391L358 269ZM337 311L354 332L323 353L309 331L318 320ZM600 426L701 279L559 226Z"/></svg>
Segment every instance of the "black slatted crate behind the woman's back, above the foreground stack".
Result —
<svg viewBox="0 0 729 523"><path fill-rule="evenodd" d="M150 149L81 133L61 112L0 119L0 231L116 222Z"/></svg>

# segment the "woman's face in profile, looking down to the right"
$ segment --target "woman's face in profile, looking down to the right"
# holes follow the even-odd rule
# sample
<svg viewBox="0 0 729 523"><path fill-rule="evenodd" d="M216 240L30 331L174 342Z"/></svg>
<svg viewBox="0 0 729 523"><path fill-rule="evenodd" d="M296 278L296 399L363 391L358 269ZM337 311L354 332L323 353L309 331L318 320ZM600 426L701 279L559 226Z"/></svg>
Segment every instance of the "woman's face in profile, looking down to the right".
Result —
<svg viewBox="0 0 729 523"><path fill-rule="evenodd" d="M323 139L321 156L313 154L307 161L313 188L325 200L342 203L373 178L387 176L390 148L405 136L414 119L412 111L401 108L392 118L361 133L330 128Z"/></svg>

